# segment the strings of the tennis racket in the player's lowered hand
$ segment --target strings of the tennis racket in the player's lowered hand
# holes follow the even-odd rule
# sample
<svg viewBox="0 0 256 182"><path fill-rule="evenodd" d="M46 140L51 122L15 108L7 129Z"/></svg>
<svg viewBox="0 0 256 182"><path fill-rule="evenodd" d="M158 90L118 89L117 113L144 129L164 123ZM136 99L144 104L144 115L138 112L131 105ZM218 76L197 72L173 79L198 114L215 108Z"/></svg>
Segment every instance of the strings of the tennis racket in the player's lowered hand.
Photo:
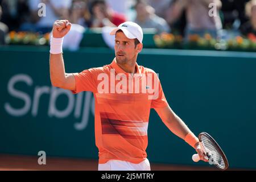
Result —
<svg viewBox="0 0 256 182"><path fill-rule="evenodd" d="M208 158L212 160L212 163L220 168L225 168L225 162L214 144L204 135L201 136L201 143L203 144L203 150L207 154Z"/></svg>

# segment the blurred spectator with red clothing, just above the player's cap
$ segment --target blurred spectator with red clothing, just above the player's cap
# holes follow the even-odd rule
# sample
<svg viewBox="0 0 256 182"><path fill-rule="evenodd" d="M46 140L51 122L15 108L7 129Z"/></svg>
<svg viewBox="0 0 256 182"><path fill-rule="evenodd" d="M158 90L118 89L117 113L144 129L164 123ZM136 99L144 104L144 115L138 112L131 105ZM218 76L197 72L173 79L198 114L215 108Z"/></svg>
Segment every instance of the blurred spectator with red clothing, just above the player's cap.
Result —
<svg viewBox="0 0 256 182"><path fill-rule="evenodd" d="M92 13L92 27L115 27L126 21L125 15L112 10L103 0L96 0L92 2Z"/></svg>

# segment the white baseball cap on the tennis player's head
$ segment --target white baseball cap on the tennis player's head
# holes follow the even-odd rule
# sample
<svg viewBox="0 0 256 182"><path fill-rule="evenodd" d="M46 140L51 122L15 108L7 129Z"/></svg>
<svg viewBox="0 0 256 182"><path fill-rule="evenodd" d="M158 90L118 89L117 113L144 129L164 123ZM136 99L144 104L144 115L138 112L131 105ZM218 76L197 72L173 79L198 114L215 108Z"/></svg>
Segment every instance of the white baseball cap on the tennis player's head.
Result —
<svg viewBox="0 0 256 182"><path fill-rule="evenodd" d="M138 39L139 42L142 43L143 31L142 31L142 28L137 23L134 23L134 22L121 23L117 28L114 28L114 30L110 32L110 35L115 35L115 33L118 30L122 30L123 34L125 34L125 36L128 39Z"/></svg>

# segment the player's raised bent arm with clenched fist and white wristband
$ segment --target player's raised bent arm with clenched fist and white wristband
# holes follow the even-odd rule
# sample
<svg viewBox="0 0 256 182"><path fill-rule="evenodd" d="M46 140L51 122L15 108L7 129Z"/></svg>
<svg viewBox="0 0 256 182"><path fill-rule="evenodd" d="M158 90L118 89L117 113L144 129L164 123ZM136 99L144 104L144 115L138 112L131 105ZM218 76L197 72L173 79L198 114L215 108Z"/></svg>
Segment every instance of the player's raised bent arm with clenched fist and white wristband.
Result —
<svg viewBox="0 0 256 182"><path fill-rule="evenodd" d="M53 86L75 90L76 81L71 73L65 73L64 60L62 55L62 42L65 35L71 29L68 20L56 20L52 28L51 51L50 51L50 77Z"/></svg>

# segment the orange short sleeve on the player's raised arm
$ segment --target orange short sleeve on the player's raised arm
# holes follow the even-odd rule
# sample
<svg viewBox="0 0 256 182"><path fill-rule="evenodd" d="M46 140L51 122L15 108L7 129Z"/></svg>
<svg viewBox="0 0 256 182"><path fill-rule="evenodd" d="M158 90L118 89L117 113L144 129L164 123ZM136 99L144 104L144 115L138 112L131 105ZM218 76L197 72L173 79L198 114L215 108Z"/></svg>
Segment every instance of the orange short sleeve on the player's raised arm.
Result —
<svg viewBox="0 0 256 182"><path fill-rule="evenodd" d="M97 74L96 69L86 69L80 73L73 73L76 80L76 90L72 90L73 94L77 94L83 91L96 92L97 84L95 75Z"/></svg>

